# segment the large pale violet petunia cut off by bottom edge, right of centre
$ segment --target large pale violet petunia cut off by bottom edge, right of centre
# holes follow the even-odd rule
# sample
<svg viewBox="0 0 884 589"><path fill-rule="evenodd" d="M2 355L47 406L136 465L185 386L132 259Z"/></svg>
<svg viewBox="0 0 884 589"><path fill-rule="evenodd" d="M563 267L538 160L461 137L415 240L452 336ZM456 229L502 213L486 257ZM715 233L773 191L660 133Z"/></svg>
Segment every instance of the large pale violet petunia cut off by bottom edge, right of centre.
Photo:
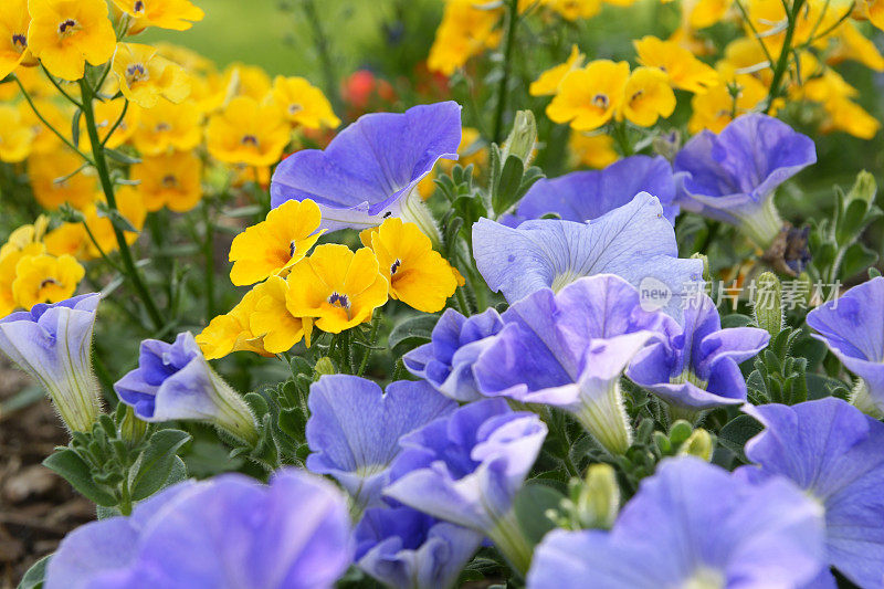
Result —
<svg viewBox="0 0 884 589"><path fill-rule="evenodd" d="M822 509L785 478L753 485L693 456L642 481L610 532L550 532L529 589L789 589L824 566Z"/></svg>

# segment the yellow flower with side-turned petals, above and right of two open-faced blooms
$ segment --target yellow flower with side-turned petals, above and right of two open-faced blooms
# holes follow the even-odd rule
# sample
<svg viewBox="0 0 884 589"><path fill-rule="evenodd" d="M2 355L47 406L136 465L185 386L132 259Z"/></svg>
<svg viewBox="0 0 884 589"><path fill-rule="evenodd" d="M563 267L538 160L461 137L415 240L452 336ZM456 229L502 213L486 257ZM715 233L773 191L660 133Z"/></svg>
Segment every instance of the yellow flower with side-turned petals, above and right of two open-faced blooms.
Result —
<svg viewBox="0 0 884 589"><path fill-rule="evenodd" d="M713 67L674 41L648 35L632 44L639 54L639 63L665 72L673 87L703 93L718 83L718 74Z"/></svg>

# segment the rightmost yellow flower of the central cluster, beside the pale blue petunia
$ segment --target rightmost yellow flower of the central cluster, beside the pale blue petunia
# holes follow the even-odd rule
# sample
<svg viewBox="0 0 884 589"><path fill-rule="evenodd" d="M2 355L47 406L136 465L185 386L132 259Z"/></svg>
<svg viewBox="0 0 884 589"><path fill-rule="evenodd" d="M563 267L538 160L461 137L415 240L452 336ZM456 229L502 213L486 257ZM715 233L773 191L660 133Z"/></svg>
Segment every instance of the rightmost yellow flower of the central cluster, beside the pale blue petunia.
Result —
<svg viewBox="0 0 884 589"><path fill-rule="evenodd" d="M457 288L457 280L451 264L433 251L430 238L417 224L390 218L359 236L375 251L390 284L390 298L424 313L444 308Z"/></svg>

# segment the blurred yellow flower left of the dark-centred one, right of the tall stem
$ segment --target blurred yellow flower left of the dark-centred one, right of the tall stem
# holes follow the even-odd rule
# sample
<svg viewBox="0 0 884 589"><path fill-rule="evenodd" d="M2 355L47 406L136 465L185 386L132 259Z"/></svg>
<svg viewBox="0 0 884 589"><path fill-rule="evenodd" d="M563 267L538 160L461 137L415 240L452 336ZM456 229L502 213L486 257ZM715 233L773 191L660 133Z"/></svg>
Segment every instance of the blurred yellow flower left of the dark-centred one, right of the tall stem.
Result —
<svg viewBox="0 0 884 589"><path fill-rule="evenodd" d="M141 112L131 141L144 156L156 156L170 149L190 151L202 138L201 119L200 111L190 102L160 102Z"/></svg>

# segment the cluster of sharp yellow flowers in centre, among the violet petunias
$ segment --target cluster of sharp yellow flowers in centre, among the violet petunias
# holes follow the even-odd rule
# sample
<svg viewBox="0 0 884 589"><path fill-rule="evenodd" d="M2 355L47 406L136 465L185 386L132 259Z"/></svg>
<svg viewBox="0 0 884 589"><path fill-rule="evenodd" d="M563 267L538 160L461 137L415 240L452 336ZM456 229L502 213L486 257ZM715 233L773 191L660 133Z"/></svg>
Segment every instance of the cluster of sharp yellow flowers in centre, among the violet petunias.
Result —
<svg viewBox="0 0 884 589"><path fill-rule="evenodd" d="M307 255L322 235L320 221L315 202L290 200L236 235L230 280L259 284L197 336L207 358L280 354L302 339L309 346L314 327L339 334L370 322L388 298L435 313L463 284L418 225L398 218L362 231L365 246L356 252L325 243Z"/></svg>

